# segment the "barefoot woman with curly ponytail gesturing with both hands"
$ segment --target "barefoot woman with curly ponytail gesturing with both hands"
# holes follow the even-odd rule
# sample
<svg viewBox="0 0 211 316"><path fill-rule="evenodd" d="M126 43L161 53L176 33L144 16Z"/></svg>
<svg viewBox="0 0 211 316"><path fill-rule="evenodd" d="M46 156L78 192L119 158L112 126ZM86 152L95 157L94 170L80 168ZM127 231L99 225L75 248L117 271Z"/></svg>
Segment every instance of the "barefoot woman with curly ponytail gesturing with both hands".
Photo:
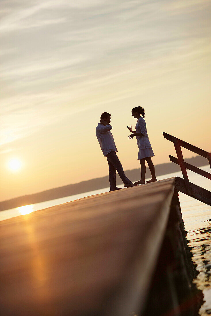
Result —
<svg viewBox="0 0 211 316"><path fill-rule="evenodd" d="M140 114L143 117L141 117ZM152 179L147 181L147 183L157 181L156 175L155 175L155 167L151 160L151 157L154 156L154 153L152 151L149 137L147 135L146 122L144 120L145 112L144 112L143 107L141 106L134 107L132 109L132 116L134 117L134 119L137 119L136 131L132 131L132 126L131 127L127 126L129 131L133 133L128 137L129 139L131 138L133 139L133 137L136 136L137 145L138 145L138 160L140 161L140 164L141 164L141 180L135 182L134 184L145 183L145 173L146 173L145 160L148 163L148 166L152 175Z"/></svg>

